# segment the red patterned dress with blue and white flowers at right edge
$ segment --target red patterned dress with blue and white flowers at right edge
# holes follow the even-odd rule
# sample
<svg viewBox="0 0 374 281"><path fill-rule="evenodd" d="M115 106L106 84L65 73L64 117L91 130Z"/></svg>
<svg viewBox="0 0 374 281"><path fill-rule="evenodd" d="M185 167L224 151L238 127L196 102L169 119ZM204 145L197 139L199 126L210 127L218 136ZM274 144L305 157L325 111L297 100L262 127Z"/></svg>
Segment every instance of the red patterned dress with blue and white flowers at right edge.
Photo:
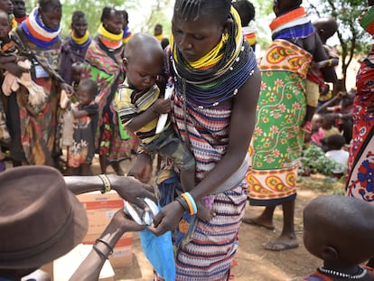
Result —
<svg viewBox="0 0 374 281"><path fill-rule="evenodd" d="M374 45L357 74L353 103L353 132L346 179L346 195L374 202L374 115L366 111L374 101Z"/></svg>

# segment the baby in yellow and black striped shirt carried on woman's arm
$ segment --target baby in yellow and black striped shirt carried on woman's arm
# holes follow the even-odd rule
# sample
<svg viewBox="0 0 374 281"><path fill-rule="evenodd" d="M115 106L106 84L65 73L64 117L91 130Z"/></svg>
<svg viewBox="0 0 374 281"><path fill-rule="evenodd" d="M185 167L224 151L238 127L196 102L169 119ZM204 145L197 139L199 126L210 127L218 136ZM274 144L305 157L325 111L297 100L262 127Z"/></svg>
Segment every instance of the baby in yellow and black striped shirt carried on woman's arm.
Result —
<svg viewBox="0 0 374 281"><path fill-rule="evenodd" d="M169 156L181 173L184 191L195 186L195 160L189 149L175 136L170 120L164 131L156 134L158 117L171 109L170 99L160 97L160 89L155 84L164 66L164 51L154 36L136 33L126 43L124 66L126 80L118 89L117 113L122 126L126 126L139 137L147 150ZM197 216L210 220L210 211L197 203Z"/></svg>

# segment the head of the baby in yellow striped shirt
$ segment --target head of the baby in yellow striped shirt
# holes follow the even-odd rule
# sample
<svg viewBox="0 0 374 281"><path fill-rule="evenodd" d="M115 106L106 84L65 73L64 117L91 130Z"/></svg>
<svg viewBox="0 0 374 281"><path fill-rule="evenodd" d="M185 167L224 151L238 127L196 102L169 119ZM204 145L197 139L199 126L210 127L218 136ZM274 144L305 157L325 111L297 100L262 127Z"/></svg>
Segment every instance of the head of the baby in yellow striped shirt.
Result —
<svg viewBox="0 0 374 281"><path fill-rule="evenodd" d="M164 66L164 51L160 42L147 33L136 33L126 43L124 69L130 87L151 88Z"/></svg>

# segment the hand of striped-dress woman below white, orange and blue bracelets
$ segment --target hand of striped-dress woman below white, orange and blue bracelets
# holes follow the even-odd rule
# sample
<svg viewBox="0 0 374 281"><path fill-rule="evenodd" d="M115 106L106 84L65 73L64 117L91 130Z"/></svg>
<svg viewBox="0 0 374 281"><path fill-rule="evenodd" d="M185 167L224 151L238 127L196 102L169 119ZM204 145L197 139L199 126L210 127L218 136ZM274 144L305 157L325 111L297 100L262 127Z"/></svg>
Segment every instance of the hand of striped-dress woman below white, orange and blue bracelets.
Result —
<svg viewBox="0 0 374 281"><path fill-rule="evenodd" d="M154 217L154 226L148 229L155 235L159 236L166 231L173 230L182 218L184 209L178 201L173 201L166 206Z"/></svg>

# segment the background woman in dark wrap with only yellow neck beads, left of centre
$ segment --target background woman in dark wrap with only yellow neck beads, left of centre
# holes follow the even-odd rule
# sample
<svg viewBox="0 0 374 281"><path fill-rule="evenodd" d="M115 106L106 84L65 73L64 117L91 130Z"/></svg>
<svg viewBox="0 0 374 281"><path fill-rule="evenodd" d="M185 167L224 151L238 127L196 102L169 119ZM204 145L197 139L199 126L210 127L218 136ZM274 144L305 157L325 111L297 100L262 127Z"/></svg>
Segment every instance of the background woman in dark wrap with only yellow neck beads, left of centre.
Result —
<svg viewBox="0 0 374 281"><path fill-rule="evenodd" d="M60 74L69 85L73 81L71 65L77 61L84 61L91 43L88 27L86 14L75 11L71 16L70 36L61 47Z"/></svg>

